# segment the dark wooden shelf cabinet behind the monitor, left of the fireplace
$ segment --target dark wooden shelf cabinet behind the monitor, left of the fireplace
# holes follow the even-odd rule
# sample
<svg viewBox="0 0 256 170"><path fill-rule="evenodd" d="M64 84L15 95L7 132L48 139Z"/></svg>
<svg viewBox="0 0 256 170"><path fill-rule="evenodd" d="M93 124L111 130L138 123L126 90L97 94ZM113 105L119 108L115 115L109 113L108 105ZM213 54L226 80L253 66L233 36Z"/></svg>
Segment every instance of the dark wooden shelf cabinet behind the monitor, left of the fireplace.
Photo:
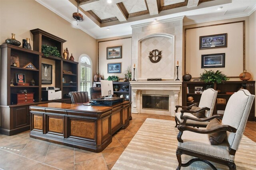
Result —
<svg viewBox="0 0 256 170"><path fill-rule="evenodd" d="M115 86L118 87L118 90L115 91ZM100 82L93 82L92 83L92 87L100 87ZM120 97L120 95L123 95L123 97L125 97L125 99L127 101L132 101L131 99L131 85L130 82L113 82L113 92L114 95L116 95L117 97Z"/></svg>

